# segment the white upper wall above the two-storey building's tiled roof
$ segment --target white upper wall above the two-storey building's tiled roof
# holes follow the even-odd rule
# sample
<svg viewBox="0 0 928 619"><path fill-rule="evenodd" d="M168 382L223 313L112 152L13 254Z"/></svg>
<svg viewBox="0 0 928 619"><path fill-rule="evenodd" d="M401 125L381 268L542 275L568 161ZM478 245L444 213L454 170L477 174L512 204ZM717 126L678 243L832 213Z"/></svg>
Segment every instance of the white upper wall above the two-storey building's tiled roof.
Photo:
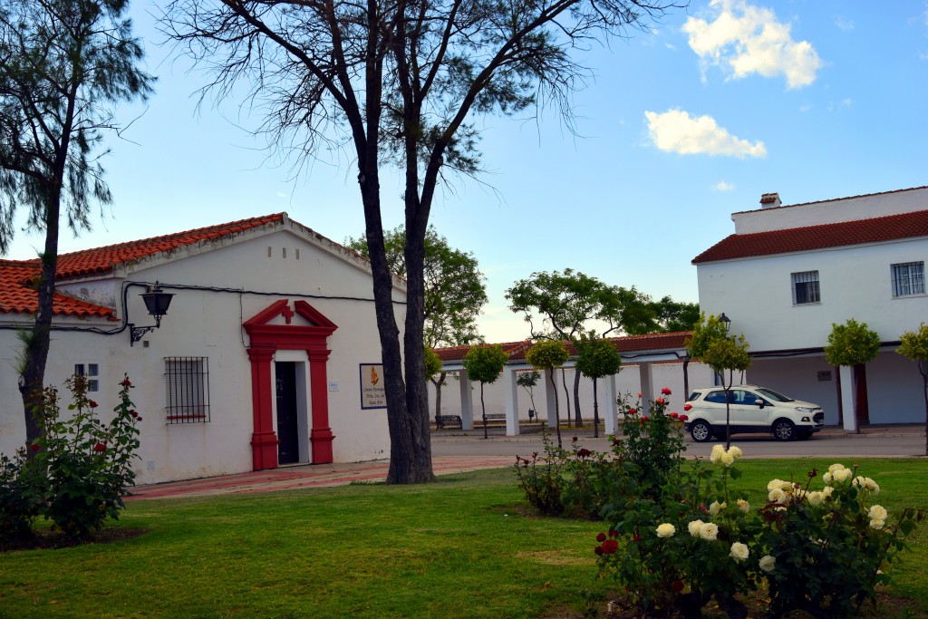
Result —
<svg viewBox="0 0 928 619"><path fill-rule="evenodd" d="M898 213L928 210L928 187L890 191L857 198L807 202L775 209L733 213L737 234L836 224Z"/></svg>

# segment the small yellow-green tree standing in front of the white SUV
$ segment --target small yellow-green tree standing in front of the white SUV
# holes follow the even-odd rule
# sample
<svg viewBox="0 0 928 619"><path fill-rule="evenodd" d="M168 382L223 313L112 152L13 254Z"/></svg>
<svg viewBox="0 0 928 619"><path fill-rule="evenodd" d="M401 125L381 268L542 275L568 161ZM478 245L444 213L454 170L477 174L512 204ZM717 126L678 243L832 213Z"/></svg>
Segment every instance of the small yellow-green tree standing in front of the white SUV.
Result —
<svg viewBox="0 0 928 619"><path fill-rule="evenodd" d="M751 366L748 355L748 341L742 333L737 338L728 338L725 324L718 316L700 315L700 321L693 326L693 334L687 342L690 356L708 365L722 377L722 389L725 390L725 448L731 446L731 405L729 393L734 381L735 371L743 372ZM728 370L728 380L725 380Z"/></svg>

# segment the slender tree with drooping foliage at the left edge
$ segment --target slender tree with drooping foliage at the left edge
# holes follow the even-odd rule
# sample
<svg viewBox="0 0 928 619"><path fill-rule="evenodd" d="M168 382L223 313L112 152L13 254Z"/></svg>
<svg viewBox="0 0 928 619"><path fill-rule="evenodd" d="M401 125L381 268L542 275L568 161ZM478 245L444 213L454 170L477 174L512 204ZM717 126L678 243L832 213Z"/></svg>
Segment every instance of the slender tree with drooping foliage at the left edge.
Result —
<svg viewBox="0 0 928 619"><path fill-rule="evenodd" d="M14 234L18 209L45 230L38 309L19 390L26 436L45 380L61 215L78 232L95 202L110 202L98 148L114 130L113 106L146 97L153 78L136 64L142 46L124 17L127 0L0 2L0 252Z"/></svg>

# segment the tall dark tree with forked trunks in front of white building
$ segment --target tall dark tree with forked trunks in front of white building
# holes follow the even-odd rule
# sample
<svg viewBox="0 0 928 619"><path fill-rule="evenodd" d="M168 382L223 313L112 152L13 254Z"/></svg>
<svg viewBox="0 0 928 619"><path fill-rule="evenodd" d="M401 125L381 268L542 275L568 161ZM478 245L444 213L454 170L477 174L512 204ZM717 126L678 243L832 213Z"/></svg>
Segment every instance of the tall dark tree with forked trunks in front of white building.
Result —
<svg viewBox="0 0 928 619"><path fill-rule="evenodd" d="M174 0L162 25L201 67L203 95L245 88L258 128L301 164L323 148L351 148L365 214L390 432L388 483L431 481L422 372L425 238L448 173L480 169L479 117L539 102L570 123L570 97L588 71L573 54L647 28L664 0L515 0L510 3L327 3ZM403 171L406 317L402 346L384 243L380 167Z"/></svg>

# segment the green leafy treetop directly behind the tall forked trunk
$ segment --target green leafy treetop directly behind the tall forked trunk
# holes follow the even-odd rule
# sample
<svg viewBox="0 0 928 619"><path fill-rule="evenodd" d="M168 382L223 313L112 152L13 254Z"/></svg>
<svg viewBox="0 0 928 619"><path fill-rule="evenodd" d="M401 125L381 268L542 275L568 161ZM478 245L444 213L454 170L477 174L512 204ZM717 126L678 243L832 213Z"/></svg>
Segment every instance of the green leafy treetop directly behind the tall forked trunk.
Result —
<svg viewBox="0 0 928 619"><path fill-rule="evenodd" d="M406 277L406 231L398 226L384 233L387 262L394 275ZM363 236L345 240L345 245L369 257ZM448 239L429 226L425 235L424 333L427 346L466 346L483 340L477 318L488 301L485 277L473 253L456 250Z"/></svg>

